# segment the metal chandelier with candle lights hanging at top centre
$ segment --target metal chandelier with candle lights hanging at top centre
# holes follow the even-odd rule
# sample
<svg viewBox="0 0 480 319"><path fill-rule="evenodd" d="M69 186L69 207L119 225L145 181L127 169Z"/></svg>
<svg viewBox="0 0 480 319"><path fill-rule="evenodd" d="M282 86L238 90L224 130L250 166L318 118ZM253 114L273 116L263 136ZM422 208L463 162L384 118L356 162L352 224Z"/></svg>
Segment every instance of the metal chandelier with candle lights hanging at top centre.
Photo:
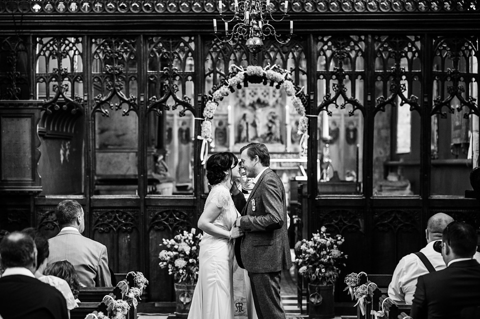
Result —
<svg viewBox="0 0 480 319"><path fill-rule="evenodd" d="M224 22L225 32L218 32L216 19L213 19L213 31L215 37L222 43L236 44L239 40L246 40L245 45L248 51L256 54L261 51L263 39L267 36L274 36L275 40L281 44L286 44L293 36L293 21L290 20L290 33L282 36L275 31L271 21L280 22L285 17L288 9L288 0L283 3L283 13L279 19L274 19L271 14L270 0L234 0L234 14L231 19L227 19L222 13L222 1L218 1L218 11L220 18ZM231 29L228 23L233 22Z"/></svg>

